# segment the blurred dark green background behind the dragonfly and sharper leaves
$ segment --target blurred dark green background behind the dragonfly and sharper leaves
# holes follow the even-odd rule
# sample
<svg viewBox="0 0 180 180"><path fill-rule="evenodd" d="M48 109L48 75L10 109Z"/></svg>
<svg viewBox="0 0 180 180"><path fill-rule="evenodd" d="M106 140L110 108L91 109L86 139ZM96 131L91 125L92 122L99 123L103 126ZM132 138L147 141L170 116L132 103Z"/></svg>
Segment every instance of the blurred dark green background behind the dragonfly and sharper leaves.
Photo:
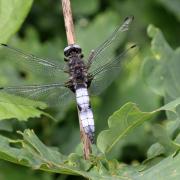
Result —
<svg viewBox="0 0 180 180"><path fill-rule="evenodd" d="M9 1L9 3L12 2ZM131 57L130 63L123 68L110 87L100 96L92 97L96 136L101 130L107 128L108 117L126 102L136 103L143 111L151 111L163 105L164 97L152 90L142 73L145 59L152 54L147 27L149 24L158 27L169 45L174 49L177 48L180 44L180 2L178 0L72 0L71 3L77 42L83 48L85 57L91 49L101 44L126 16L135 17L120 48L123 49L135 43L139 46L139 51ZM2 4L0 3L0 6ZM0 7L1 11L8 11L8 8L2 9L2 7ZM23 7L19 8L21 10ZM0 29L3 27L1 26ZM60 1L34 1L17 33L13 32L11 38L2 38L5 43L7 40L8 44L40 57L63 61L63 49L67 43ZM1 85L46 81L45 78L29 77L28 72L18 71L12 62L3 61L2 58L0 63ZM14 137L16 130L32 128L46 145L56 146L64 154L78 151L80 137L75 103L69 102L64 107L51 108L47 112L55 117L57 122L44 116L31 118L28 122L17 122L15 119L0 121L0 132ZM113 157L128 164L142 162L146 158L148 148L155 142L151 124L164 119L165 114L161 113L151 123L138 127L118 145L113 151ZM80 179L34 172L0 161L0 180L25 178L31 180Z"/></svg>

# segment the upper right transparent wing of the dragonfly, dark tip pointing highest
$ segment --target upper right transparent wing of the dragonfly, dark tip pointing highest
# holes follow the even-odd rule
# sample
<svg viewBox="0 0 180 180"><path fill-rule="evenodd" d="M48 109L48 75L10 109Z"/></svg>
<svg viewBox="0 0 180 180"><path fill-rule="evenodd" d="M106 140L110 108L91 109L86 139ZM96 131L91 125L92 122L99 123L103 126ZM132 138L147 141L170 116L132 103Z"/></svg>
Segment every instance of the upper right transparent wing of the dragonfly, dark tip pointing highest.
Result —
<svg viewBox="0 0 180 180"><path fill-rule="evenodd" d="M122 32L128 30L128 27L133 19L133 16L126 17L123 24L120 25L112 33L112 35L95 51L92 51L88 60L89 72L93 72L95 69L99 69L99 67L104 66L106 63L114 59L113 56L115 54L115 51L124 38Z"/></svg>

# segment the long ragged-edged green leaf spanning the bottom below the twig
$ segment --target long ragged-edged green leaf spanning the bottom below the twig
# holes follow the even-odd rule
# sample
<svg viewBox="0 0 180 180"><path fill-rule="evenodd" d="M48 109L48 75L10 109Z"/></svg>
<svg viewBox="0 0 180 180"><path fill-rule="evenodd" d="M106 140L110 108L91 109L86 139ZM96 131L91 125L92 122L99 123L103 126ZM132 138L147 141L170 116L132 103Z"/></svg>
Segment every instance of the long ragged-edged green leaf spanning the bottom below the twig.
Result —
<svg viewBox="0 0 180 180"><path fill-rule="evenodd" d="M163 179L178 177L180 154L162 160L160 163L141 173L116 160L107 161L96 157L93 162L83 160L82 156L62 155L57 150L45 146L32 130L19 132L23 139L12 140L0 135L0 158L23 166L43 171L81 175L93 180L98 179ZM165 170L166 169L166 170ZM168 172L167 172L168 171ZM160 173L161 172L161 173ZM156 174L156 176L155 176ZM154 178L153 178L154 179Z"/></svg>

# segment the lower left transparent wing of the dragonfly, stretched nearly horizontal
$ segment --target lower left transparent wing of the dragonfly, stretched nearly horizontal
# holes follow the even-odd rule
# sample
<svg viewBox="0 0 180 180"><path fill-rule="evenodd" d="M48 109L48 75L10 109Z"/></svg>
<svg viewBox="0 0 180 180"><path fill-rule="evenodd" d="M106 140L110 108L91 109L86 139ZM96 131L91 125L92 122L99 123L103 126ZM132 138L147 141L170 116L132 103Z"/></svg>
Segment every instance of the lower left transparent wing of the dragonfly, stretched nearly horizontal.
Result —
<svg viewBox="0 0 180 180"><path fill-rule="evenodd" d="M6 92L17 96L26 97L36 101L44 101L49 106L66 103L74 97L74 94L63 84L28 85L1 87L0 92Z"/></svg>

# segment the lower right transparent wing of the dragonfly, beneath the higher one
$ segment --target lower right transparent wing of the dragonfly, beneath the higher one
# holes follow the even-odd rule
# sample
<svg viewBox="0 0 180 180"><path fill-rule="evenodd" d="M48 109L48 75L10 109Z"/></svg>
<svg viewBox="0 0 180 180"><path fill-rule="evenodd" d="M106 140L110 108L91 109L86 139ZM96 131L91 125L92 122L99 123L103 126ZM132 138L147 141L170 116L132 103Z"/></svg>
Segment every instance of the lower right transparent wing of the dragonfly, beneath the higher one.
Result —
<svg viewBox="0 0 180 180"><path fill-rule="evenodd" d="M89 77L92 79L90 93L92 95L100 94L112 83L112 81L120 73L123 62L125 60L125 56L129 54L130 51L134 51L135 49L137 49L136 45L131 46L130 48L119 54L116 58L112 59L112 61L104 64L100 68L90 73Z"/></svg>

